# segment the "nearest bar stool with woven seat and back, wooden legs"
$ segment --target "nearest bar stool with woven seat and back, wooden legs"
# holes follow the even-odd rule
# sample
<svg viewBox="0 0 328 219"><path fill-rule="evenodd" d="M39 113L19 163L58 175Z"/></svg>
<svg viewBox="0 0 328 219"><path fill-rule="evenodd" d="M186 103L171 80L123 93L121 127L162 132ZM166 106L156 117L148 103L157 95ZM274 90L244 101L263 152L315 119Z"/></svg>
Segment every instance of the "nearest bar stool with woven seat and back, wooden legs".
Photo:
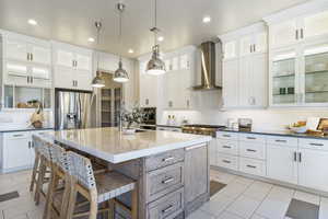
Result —
<svg viewBox="0 0 328 219"><path fill-rule="evenodd" d="M68 152L69 173L71 175L69 206L67 219L89 215L89 219L96 219L98 205L107 203L112 206L112 216L114 214L113 200L115 197L131 192L132 205L130 208L131 218L138 219L138 192L133 180L117 173L115 171L94 174L91 161L75 152ZM74 208L78 194L90 201L90 210L83 214L75 214ZM126 209L129 209L126 207ZM110 217L110 215L109 215Z"/></svg>

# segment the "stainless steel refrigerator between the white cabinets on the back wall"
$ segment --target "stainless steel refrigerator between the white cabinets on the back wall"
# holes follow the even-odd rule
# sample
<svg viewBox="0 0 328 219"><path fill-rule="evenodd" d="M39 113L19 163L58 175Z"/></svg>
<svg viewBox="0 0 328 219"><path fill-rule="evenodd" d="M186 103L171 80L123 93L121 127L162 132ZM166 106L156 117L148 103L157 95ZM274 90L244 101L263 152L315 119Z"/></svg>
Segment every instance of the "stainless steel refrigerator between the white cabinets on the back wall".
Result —
<svg viewBox="0 0 328 219"><path fill-rule="evenodd" d="M55 90L55 129L89 128L92 93Z"/></svg>

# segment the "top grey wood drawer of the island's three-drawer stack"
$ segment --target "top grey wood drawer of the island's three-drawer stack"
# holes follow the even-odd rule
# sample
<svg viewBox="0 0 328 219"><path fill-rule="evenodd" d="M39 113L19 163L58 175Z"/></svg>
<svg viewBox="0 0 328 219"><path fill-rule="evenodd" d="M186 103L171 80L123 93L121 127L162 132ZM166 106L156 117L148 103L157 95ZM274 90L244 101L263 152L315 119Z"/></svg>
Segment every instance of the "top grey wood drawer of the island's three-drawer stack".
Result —
<svg viewBox="0 0 328 219"><path fill-rule="evenodd" d="M153 171L160 168L164 168L185 159L185 150L178 149L168 151L165 153L160 153L145 159L145 166L148 171Z"/></svg>

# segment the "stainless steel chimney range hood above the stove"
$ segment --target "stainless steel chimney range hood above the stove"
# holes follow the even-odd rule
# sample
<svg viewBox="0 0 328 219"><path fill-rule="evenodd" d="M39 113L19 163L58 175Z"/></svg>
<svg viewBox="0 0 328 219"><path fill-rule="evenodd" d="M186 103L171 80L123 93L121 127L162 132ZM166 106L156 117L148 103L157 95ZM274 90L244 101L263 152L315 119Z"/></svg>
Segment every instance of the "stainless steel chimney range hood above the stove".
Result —
<svg viewBox="0 0 328 219"><path fill-rule="evenodd" d="M196 85L194 90L219 90L222 87L216 85L215 70L215 43L204 42L200 45L201 51L201 84ZM197 72L198 73L198 72Z"/></svg>

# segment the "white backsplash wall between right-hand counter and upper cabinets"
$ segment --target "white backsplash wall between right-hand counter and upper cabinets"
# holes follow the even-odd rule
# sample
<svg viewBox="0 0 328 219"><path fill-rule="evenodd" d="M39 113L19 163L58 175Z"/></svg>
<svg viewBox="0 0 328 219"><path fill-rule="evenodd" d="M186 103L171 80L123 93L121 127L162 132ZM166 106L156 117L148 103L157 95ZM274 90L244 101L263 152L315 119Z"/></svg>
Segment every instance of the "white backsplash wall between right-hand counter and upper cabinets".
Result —
<svg viewBox="0 0 328 219"><path fill-rule="evenodd" d="M227 118L251 118L253 129L282 130L286 125L307 117L328 117L328 110L219 110L202 111L164 111L159 115L157 123L166 124L167 116L175 115L177 125L187 118L189 124L226 125Z"/></svg>

